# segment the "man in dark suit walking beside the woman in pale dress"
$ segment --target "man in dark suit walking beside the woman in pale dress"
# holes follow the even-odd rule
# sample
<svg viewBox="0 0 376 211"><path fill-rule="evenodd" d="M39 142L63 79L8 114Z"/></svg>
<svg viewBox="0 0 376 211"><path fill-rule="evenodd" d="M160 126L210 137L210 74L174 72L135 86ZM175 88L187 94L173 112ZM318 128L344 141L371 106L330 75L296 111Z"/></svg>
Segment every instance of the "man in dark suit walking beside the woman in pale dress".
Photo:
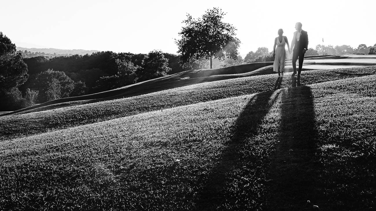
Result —
<svg viewBox="0 0 376 211"><path fill-rule="evenodd" d="M297 30L294 32L294 38L291 42L291 51L293 51L293 74L296 74L296 60L299 57L299 69L298 69L298 77L300 77L300 71L302 71L304 54L308 49L308 34L306 31L302 30L302 23L298 22L295 24L295 29Z"/></svg>

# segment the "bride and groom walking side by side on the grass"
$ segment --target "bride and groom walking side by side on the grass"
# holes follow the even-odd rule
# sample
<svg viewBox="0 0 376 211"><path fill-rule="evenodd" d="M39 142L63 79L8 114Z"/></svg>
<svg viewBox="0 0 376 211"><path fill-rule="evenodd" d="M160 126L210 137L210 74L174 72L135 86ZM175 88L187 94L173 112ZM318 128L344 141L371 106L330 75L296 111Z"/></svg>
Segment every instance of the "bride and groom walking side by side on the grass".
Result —
<svg viewBox="0 0 376 211"><path fill-rule="evenodd" d="M294 32L294 38L291 42L291 48L288 44L288 40L286 36L283 35L283 30L278 30L278 37L274 40L274 47L273 47L273 56L274 59L274 65L273 65L273 71L278 72L278 76L284 75L284 68L285 68L285 45L287 44L288 52L291 54L291 51L293 51L293 74L292 77L296 75L296 61L299 57L299 67L298 67L298 78L300 78L300 72L302 71L303 66L303 60L304 60L304 54L308 49L308 34L306 31L302 30L302 23L298 22L295 24L296 32ZM277 47L277 48L276 48Z"/></svg>

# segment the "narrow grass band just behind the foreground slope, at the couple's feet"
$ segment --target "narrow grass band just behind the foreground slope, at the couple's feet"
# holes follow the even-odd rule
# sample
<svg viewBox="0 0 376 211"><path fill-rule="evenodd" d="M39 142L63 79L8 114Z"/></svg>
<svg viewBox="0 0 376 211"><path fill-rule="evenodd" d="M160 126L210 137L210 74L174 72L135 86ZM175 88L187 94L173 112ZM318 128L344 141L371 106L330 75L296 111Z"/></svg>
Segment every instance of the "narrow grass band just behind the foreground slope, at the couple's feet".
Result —
<svg viewBox="0 0 376 211"><path fill-rule="evenodd" d="M376 66L305 71L302 72L300 84L307 85L370 74L376 74ZM54 105L59 107L58 109L42 107L28 111L35 113L0 117L0 140L296 85L296 81L291 80L290 74L286 74L280 81L277 80L276 75L261 75L196 84L91 104L70 105L74 102L58 104Z"/></svg>

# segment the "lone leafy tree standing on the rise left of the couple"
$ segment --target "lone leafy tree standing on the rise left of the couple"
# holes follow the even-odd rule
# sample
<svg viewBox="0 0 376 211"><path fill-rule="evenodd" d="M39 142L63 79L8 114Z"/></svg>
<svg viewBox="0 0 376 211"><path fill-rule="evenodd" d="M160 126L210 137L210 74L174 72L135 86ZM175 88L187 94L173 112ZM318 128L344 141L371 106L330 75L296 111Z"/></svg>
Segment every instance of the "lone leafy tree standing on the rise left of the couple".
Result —
<svg viewBox="0 0 376 211"><path fill-rule="evenodd" d="M179 32L181 39L176 41L183 64L190 63L193 59L224 60L227 58L238 59L240 41L235 37L235 27L223 23L225 15L219 8L208 9L201 18L194 19L190 14L183 21L185 27Z"/></svg>

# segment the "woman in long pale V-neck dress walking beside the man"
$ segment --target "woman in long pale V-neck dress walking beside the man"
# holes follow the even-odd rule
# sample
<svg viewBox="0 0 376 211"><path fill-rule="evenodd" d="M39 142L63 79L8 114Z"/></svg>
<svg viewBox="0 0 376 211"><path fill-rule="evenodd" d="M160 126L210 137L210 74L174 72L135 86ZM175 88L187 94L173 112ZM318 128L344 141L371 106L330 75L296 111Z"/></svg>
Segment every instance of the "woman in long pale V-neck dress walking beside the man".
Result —
<svg viewBox="0 0 376 211"><path fill-rule="evenodd" d="M283 70L285 68L285 56L286 56L286 50L285 50L285 45L287 44L288 48L288 53L291 54L290 52L290 45L288 44L288 40L286 36L283 35L283 30L278 29L278 37L274 40L274 47L273 47L273 57L274 59L274 65L273 65L273 71L278 72L278 77L282 73L283 76ZM277 49L276 49L277 46Z"/></svg>

